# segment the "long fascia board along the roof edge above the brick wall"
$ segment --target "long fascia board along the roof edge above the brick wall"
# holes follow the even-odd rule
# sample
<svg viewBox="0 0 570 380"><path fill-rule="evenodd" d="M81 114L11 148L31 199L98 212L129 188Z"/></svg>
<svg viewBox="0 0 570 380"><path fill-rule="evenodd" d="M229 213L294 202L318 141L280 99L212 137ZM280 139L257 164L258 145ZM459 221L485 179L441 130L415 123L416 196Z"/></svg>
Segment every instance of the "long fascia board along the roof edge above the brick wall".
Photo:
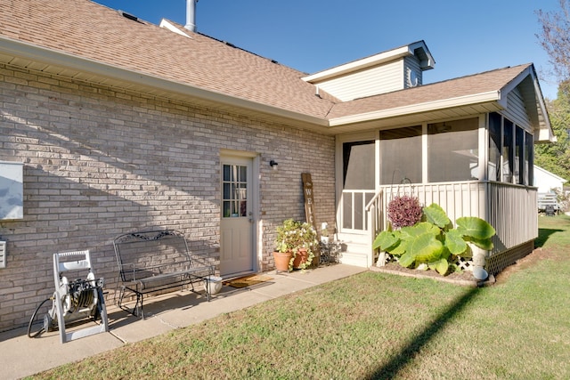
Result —
<svg viewBox="0 0 570 380"><path fill-rule="evenodd" d="M76 69L81 72L109 77L122 82L130 82L167 92L179 93L189 97L199 98L204 101L212 101L236 108L249 109L274 116L292 118L297 121L313 125L328 126L327 120L322 117L311 117L300 112L289 111L287 109L261 104L256 101L248 101L247 99L238 98L224 93L216 93L214 91L192 85L184 85L173 80L155 77L140 71L119 68L118 66L94 61L69 53L46 49L45 47L13 40L12 38L5 36L0 36L0 52L28 59L30 61L43 62L62 68Z"/></svg>

